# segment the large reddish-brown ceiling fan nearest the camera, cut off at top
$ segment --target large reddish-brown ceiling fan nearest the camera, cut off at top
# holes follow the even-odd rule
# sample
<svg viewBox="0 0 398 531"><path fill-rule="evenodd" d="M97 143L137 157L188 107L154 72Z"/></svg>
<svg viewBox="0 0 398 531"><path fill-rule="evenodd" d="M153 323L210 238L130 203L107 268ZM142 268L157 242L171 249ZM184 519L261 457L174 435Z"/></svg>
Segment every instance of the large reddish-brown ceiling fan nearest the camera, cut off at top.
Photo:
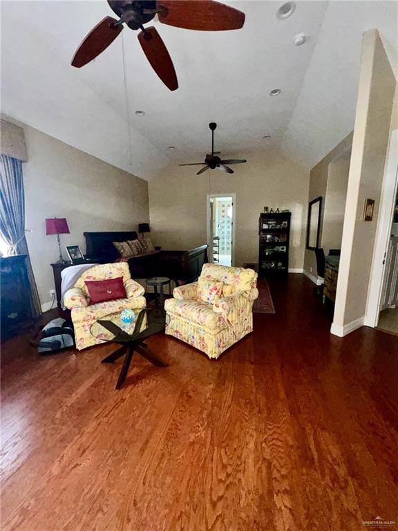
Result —
<svg viewBox="0 0 398 531"><path fill-rule="evenodd" d="M158 15L162 24L187 30L238 30L245 23L245 13L213 0L108 0L119 19L105 17L84 38L72 59L81 68L102 53L123 29L140 29L138 40L155 73L171 90L178 88L176 71L158 31L144 24Z"/></svg>

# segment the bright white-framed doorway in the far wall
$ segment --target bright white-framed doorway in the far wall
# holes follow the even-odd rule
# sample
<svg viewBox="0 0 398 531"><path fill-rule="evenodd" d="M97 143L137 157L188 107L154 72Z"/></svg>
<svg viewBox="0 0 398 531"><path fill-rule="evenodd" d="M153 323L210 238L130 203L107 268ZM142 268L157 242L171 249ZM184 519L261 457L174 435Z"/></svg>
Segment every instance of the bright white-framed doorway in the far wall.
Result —
<svg viewBox="0 0 398 531"><path fill-rule="evenodd" d="M236 194L207 195L209 261L234 265Z"/></svg>

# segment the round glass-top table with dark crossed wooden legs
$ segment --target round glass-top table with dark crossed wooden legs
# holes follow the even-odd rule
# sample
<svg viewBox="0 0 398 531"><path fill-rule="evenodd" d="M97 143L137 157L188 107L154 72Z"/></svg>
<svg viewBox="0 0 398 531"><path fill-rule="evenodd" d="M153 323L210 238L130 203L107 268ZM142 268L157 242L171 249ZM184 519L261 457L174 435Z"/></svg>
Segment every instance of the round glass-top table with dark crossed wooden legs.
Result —
<svg viewBox="0 0 398 531"><path fill-rule="evenodd" d="M103 342L121 345L117 351L102 360L102 363L113 363L124 355L122 369L120 370L119 378L117 378L115 389L120 389L124 380L126 380L134 352L142 355L153 365L158 367L168 366L167 363L149 351L149 348L144 343L144 339L164 330L166 319L167 315L164 311L144 308L135 313L133 321L129 323L123 322L121 312L117 312L105 315L91 325L91 335Z"/></svg>

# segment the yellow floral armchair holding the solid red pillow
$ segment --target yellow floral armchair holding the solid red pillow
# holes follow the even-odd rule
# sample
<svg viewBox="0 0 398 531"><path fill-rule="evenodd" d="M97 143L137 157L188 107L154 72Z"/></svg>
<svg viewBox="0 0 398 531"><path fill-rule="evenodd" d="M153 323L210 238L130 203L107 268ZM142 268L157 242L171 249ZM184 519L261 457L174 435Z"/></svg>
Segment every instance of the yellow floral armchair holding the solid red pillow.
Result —
<svg viewBox="0 0 398 531"><path fill-rule="evenodd" d="M126 299L88 304L88 291L84 281L116 279L117 277L123 277ZM75 286L64 294L64 306L69 308L72 313L77 349L81 351L82 348L102 343L90 333L91 325L97 319L101 319L109 313L122 311L124 308L130 308L131 310L145 308L144 292L144 288L131 279L128 263L104 263L93 265L92 268L84 271Z"/></svg>

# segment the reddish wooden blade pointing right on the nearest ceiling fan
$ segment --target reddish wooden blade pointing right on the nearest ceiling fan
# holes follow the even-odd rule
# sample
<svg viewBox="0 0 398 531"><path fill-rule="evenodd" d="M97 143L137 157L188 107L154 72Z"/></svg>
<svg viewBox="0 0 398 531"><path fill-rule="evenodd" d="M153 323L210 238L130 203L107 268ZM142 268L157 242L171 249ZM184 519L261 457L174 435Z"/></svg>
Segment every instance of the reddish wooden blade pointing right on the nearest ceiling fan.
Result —
<svg viewBox="0 0 398 531"><path fill-rule="evenodd" d="M245 24L245 13L213 0L158 0L162 24L187 30L238 30Z"/></svg>

